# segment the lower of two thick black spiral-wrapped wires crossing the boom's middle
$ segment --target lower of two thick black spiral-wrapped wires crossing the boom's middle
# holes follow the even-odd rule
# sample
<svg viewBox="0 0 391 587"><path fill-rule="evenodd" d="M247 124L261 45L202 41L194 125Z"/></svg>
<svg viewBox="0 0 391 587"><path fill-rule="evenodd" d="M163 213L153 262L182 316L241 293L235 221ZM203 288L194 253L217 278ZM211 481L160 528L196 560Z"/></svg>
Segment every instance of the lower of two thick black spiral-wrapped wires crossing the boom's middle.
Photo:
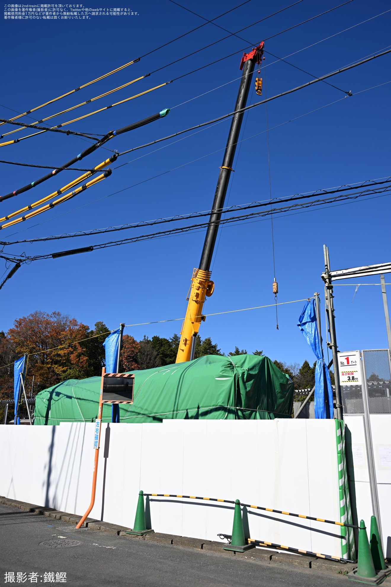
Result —
<svg viewBox="0 0 391 587"><path fill-rule="evenodd" d="M368 192L368 190L364 190L363 192L357 193L357 194L340 194L340 195L335 195L335 196L329 197L329 198L321 198L320 200L314 200L314 201L309 202L307 204L297 203L297 204L291 204L291 205L283 206L283 207L279 207L279 208L273 208L273 209L269 208L268 210L264 210L264 211L250 212L248 214L242 214L242 215L232 216L229 218L223 218L222 220L219 220L216 222L219 224L222 224L222 225L232 224L233 222L240 222L240 221L243 222L243 221L249 220L250 218L267 217L271 213L281 214L283 212L289 212L291 210L301 210L304 208L318 207L318 206L321 206L322 204L332 204L332 203L338 203L341 201L357 200L358 198L363 197L364 195L373 195L373 197L381 197L382 195L386 195L386 194L390 193L390 191L391 191L391 186L388 185L383 188L378 188L378 190L376 190L376 191L373 190L372 194L370 194ZM380 194L380 196L378 194ZM266 203L266 205L270 205L270 202ZM116 246L123 245L123 244L130 244L132 242L140 242L140 241L144 241L144 240L151 240L154 238L174 236L176 234L182 234L185 232L203 230L204 228L207 228L209 224L210 224L210 222L206 221L206 222L202 222L199 224L192 224L192 225L185 226L185 227L171 228L171 229L165 230L165 231L152 232L151 234L138 235L137 237L123 238L119 241L108 241L108 242L100 243L98 245L90 245L88 247L82 247L82 248L78 248L78 249L70 249L67 251L57 251L57 252L44 254L44 255L35 255L33 257L28 257L24 254L23 254L23 256L19 255L19 257L17 255L15 255L14 257L9 257L9 255L0 254L0 258L6 259L8 261L13 261L13 262L29 263L32 261L49 259L50 257L52 257L52 258L65 257L67 255L78 254L81 252L89 252L89 251L95 251L98 249L103 249L103 248L108 248L108 247L116 247Z"/></svg>

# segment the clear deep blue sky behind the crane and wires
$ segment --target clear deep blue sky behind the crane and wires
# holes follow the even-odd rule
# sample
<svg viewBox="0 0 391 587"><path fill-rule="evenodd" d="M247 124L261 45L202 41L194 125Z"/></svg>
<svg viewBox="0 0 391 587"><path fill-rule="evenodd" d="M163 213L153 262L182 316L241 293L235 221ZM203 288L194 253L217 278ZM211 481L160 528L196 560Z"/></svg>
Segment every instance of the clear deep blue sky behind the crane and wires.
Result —
<svg viewBox="0 0 391 587"><path fill-rule="evenodd" d="M251 0L216 22L229 31L237 31L288 4L276 1L266 7L264 3ZM233 8L236 3L200 0L195 5L183 0L183 5L211 19ZM329 0L316 3L303 0L239 34L255 45L337 5L338 2ZM87 2L85 6L96 8L101 5ZM165 107L172 109L165 119L117 137L107 145L110 149L123 151L233 110L241 75L240 59L246 42L230 36L178 61L181 56L217 41L227 33L207 24L154 52L159 45L202 24L202 19L168 0L138 1L119 6L127 6L140 14L126 18L100 16L90 21L2 20L2 38L9 40L12 50L8 59L2 62L1 116L11 117L13 113L9 109L25 112L145 53L148 55L140 62L39 110L35 120L158 70L111 96L53 119L53 124L65 122L217 59L221 60L215 65L74 123L69 128L104 134ZM291 63L313 75L324 75L389 45L390 8L386 1L353 0L266 41L265 49L279 58L297 52L287 58ZM385 11L386 14L371 19ZM353 26L367 19L371 20ZM353 28L336 35L350 27ZM332 35L336 36L319 43ZM301 50L309 45L314 46ZM222 59L234 52L236 54L232 57ZM171 62L174 64L161 69ZM266 54L264 63L267 65L263 77L268 96L311 79L281 61L276 62L276 58L270 55ZM338 89L317 83L268 105L273 197L390 174L391 84L386 84L391 81L390 64L391 57L387 55L330 80L343 90L352 90L352 97L344 97ZM362 92L380 84L386 85ZM252 89L249 103L258 100ZM316 109L316 112L307 114ZM288 122L302 114L307 115ZM285 122L287 124L272 128ZM229 204L269 198L265 129L264 106L245 114L241 139L248 140L240 143L237 149L235 173L227 194ZM3 126L1 130L4 133L11 129ZM213 201L228 131L229 121L226 121L192 136L182 136L183 140L167 141L120 157L117 164L111 166L111 177L55 210L3 230L1 239L42 237L208 210ZM15 136L25 134L29 133L21 131ZM4 160L56 167L86 147L87 143L79 137L45 133L2 147L0 154ZM100 149L84 159L79 167L92 167L107 156L109 151ZM130 163L114 169L127 161ZM170 173L149 180L172 169ZM2 194L45 173L5 164L1 164L0 170ZM2 202L1 215L39 200L78 175L77 171L64 171L39 187ZM129 188L134 184L140 185ZM318 291L324 313L324 286L320 278L324 269L322 245L329 246L332 269L390 261L389 218L389 196L275 217L278 302L304 299ZM142 234L142 231L18 244L5 250L14 254L41 254L97 244L130 236L130 233ZM23 265L0 292L0 329L7 330L16 318L37 309L67 313L91 328L97 321L114 329L120 322L135 324L182 318L192 269L198 266L204 234L202 231L192 232ZM0 271L6 271L4 261L1 261ZM223 227L213 260L215 293L208 299L205 313L273 304L273 277L270 220ZM349 280L348 283L360 281L375 284L379 278ZM391 282L391 276L386 282ZM385 348L387 339L379 286L360 286L353 299L354 293L354 286L335 288L339 348ZM210 316L202 324L200 335L202 338L211 336L225 353L237 345L248 352L263 349L271 359L288 363L301 363L305 358L312 362L315 357L297 328L303 305L304 302L298 302L278 307L279 330L276 329L275 309L270 307ZM127 328L126 332L140 339L144 334L172 336L180 328L181 321L178 321L134 326Z"/></svg>

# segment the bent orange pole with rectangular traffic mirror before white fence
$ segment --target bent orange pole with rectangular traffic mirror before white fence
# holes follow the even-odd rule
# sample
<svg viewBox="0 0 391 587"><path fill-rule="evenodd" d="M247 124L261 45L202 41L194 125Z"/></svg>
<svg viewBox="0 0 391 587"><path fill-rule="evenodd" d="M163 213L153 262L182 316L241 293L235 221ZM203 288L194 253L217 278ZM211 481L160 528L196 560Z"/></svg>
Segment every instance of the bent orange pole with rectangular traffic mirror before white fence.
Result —
<svg viewBox="0 0 391 587"><path fill-rule="evenodd" d="M92 481L91 502L88 510L81 518L76 528L81 528L84 521L89 516L95 503L96 480L98 475L99 443L102 423L103 404L132 404L134 390L134 375L130 373L106 373L106 368L102 369L100 383L99 410L98 417L95 421L94 429L94 473Z"/></svg>

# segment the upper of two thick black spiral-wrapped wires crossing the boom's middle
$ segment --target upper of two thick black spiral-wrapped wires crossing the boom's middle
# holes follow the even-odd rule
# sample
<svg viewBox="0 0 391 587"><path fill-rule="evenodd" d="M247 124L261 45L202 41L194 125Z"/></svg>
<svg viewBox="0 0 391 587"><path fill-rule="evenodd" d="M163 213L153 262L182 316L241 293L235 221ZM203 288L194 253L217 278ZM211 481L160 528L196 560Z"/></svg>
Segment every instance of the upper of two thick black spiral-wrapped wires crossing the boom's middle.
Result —
<svg viewBox="0 0 391 587"><path fill-rule="evenodd" d="M381 180L367 180L363 181L361 184L346 184L340 185L336 188L328 188L328 189L319 189L315 190L311 193L305 194L294 194L285 198L273 198L272 200L264 200L264 201L256 201L251 202L250 204L244 205L231 205L221 208L219 211L222 214L227 214L228 212L237 212L242 210L251 210L253 208L262 208L268 207L271 204L284 204L290 203L297 200L308 200L310 198L314 198L318 195L333 195L333 194L341 194L346 195L346 193L350 192L350 195L371 195L376 193L381 193L379 190L389 190L391 189L391 176L387 178L381 178ZM362 190L362 191L360 191ZM51 237L38 237L38 238L30 238L30 239L23 239L20 241L0 241L0 245L3 247L6 245L15 245L21 244L26 242L46 242L46 241L56 241L64 238L74 238L74 237L89 237L91 235L96 234L104 234L106 232L117 232L121 230L128 230L130 228L142 228L147 226L155 226L157 224L167 224L169 222L178 222L181 220L189 220L191 218L201 218L210 215L210 210L202 211L202 212L191 212L190 214L178 214L173 217L169 218L157 218L156 220L150 221L141 221L141 222L133 222L131 224L123 224L118 227L107 227L107 228L98 228L89 231L79 231L74 232L71 234L62 234L56 235Z"/></svg>

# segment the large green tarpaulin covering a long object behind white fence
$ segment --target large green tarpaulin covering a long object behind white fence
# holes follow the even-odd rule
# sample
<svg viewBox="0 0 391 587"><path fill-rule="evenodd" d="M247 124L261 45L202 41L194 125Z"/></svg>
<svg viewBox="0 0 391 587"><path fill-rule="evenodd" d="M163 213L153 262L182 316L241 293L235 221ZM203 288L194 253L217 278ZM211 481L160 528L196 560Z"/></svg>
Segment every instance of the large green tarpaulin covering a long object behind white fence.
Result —
<svg viewBox="0 0 391 587"><path fill-rule="evenodd" d="M208 355L132 373L134 402L120 405L120 422L291 417L293 382L265 356ZM100 380L69 379L38 393L34 424L95 421ZM103 406L103 421L111 421L110 405Z"/></svg>

